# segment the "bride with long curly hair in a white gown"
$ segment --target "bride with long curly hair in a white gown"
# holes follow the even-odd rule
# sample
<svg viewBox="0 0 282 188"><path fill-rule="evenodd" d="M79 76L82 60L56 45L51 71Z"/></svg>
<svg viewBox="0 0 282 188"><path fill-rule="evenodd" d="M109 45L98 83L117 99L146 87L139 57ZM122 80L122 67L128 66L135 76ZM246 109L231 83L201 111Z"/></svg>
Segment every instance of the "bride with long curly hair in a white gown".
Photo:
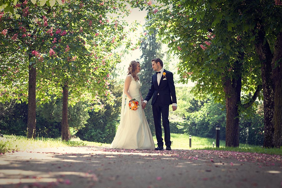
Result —
<svg viewBox="0 0 282 188"><path fill-rule="evenodd" d="M116 136L112 141L111 148L155 149L149 124L145 117L144 110L141 107L143 98L140 92L141 83L138 77L140 70L140 63L138 61L130 62L128 75L123 85L120 124ZM128 106L128 103L131 102L132 99L140 103L137 110L131 110Z"/></svg>

